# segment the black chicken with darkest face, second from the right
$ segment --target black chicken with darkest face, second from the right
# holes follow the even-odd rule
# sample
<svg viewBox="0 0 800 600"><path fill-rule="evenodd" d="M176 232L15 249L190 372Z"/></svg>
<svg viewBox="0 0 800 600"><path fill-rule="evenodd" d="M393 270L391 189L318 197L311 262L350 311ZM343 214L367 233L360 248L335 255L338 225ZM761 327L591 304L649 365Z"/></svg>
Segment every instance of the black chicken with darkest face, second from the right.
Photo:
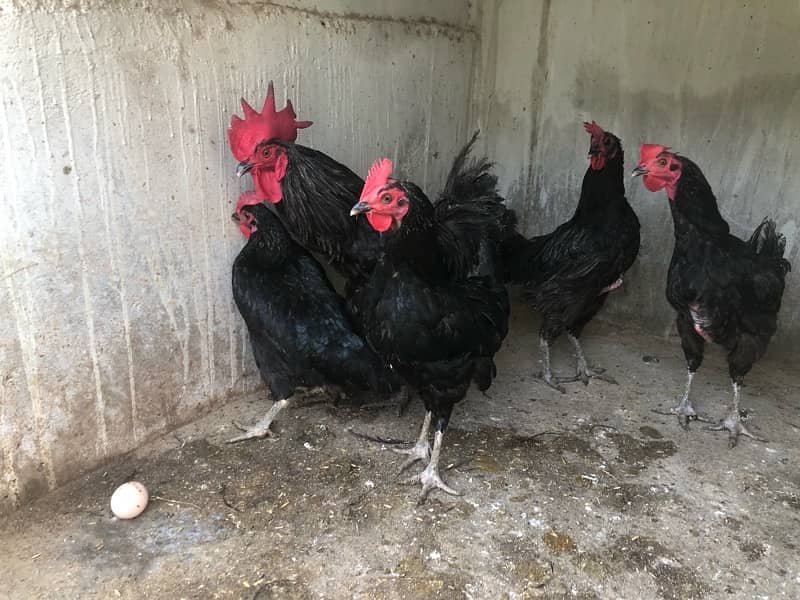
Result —
<svg viewBox="0 0 800 600"><path fill-rule="evenodd" d="M555 231L531 239L517 234L503 245L505 279L523 284L525 295L542 315L539 347L544 383L560 392L559 383L598 378L604 369L586 361L583 328L622 285L622 276L639 253L639 219L625 198L622 143L596 123L584 123L591 135L590 165L572 218ZM550 345L566 331L575 348L575 377L554 378Z"/></svg>

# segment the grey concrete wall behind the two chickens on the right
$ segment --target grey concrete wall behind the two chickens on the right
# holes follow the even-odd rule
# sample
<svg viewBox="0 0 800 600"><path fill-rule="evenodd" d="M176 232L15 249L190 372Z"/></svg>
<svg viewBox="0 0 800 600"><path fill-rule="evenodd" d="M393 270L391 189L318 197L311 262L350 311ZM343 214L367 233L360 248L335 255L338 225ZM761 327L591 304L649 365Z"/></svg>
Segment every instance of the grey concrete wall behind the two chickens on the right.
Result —
<svg viewBox="0 0 800 600"><path fill-rule="evenodd" d="M773 351L800 343L800 3L487 0L473 119L488 132L528 233L572 215L587 167L584 119L694 159L733 233L765 215L795 265ZM627 183L642 251L605 315L669 331L673 228L664 193ZM796 354L795 354L796 355Z"/></svg>

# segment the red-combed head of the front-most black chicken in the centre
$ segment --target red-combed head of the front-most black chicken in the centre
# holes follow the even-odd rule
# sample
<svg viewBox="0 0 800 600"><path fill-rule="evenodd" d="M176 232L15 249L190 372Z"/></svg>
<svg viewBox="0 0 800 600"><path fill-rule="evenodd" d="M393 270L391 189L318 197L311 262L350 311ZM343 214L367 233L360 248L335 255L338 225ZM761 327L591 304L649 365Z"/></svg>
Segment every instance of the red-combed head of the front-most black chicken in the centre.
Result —
<svg viewBox="0 0 800 600"><path fill-rule="evenodd" d="M351 216L366 213L369 224L383 233L397 229L408 213L408 194L403 186L391 179L392 161L376 160L370 167L361 198L350 211Z"/></svg>

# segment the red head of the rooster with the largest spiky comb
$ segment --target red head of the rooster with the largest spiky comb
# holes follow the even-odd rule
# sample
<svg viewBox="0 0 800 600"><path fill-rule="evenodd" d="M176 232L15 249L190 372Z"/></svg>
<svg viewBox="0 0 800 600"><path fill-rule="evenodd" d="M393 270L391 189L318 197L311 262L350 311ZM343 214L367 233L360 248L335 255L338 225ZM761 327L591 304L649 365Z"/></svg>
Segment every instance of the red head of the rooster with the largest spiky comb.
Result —
<svg viewBox="0 0 800 600"><path fill-rule="evenodd" d="M250 173L261 199L277 203L283 198L281 180L286 174L286 152L276 141L294 142L297 130L309 127L311 121L297 121L291 100L283 110L275 110L275 91L270 81L261 112L242 98L244 119L233 115L228 128L228 144L239 166L240 177Z"/></svg>

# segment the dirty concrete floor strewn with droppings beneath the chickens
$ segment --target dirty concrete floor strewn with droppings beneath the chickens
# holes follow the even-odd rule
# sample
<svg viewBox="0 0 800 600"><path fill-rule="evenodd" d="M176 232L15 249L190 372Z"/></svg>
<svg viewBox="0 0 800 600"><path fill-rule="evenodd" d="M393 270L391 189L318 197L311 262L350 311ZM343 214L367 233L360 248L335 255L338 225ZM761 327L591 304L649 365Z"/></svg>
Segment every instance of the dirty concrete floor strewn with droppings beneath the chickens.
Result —
<svg viewBox="0 0 800 600"><path fill-rule="evenodd" d="M0 525L5 598L800 598L800 376L767 356L743 390L751 430L681 429L679 342L594 324L590 359L619 381L536 383L535 323L517 311L489 397L471 391L445 435L461 497L399 483L393 444L419 401L283 412L275 439L229 445L265 394L227 405L81 478ZM558 371L574 368L566 341ZM730 406L724 356L695 378L698 411ZM412 467L414 471L422 466ZM143 482L137 519L111 492Z"/></svg>

